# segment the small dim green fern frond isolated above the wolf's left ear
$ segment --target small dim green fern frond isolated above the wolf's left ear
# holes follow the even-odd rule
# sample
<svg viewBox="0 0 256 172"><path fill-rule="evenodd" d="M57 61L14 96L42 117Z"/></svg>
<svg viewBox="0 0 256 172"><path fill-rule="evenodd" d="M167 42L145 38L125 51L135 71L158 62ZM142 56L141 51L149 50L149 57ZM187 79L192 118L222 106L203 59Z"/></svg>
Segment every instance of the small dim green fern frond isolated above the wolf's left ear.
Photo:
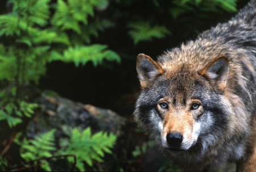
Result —
<svg viewBox="0 0 256 172"><path fill-rule="evenodd" d="M134 44L137 44L139 41L152 40L152 37L162 38L171 34L166 27L151 27L149 22L130 23L128 27L131 28L129 34L133 38Z"/></svg>

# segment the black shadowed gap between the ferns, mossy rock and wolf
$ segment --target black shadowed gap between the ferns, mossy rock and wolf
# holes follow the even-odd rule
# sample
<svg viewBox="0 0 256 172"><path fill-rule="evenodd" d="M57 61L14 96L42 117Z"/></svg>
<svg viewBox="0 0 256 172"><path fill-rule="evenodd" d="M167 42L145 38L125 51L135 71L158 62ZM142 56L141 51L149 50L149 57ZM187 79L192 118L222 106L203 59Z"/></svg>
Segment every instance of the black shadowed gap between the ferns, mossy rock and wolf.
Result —
<svg viewBox="0 0 256 172"><path fill-rule="evenodd" d="M56 91L61 96L81 102L93 104L102 108L110 108L120 115L132 114L133 103L139 91L139 81L136 72L136 57L144 53L156 60L156 57L170 49L177 47L186 40L193 40L197 33L216 26L217 23L227 22L235 12L213 13L208 18L200 18L195 14L185 14L181 19L171 19L168 14L170 2L160 1L159 11L154 13L153 5L149 1L134 1L131 6L117 6L109 4L108 13L123 14L122 18L115 19L115 26L100 32L98 38L92 37L92 44L106 44L109 49L121 56L121 64L106 62L105 65L93 66L88 62L85 66L75 67L75 64L65 64L53 61L47 65L47 73L40 79L39 87L42 90ZM237 1L237 9L241 9L248 1ZM166 4L165 4L166 3ZM5 10L5 1L1 1L1 11ZM200 10L200 9L199 9ZM170 28L172 34L164 39L141 41L137 45L127 34L126 20L131 14L142 18L158 21ZM150 17L149 17L150 16ZM153 16L153 17L152 17ZM209 17L210 16L210 17ZM186 20L187 18L187 20ZM190 28L192 29L190 30ZM196 31L193 29L196 28Z"/></svg>

